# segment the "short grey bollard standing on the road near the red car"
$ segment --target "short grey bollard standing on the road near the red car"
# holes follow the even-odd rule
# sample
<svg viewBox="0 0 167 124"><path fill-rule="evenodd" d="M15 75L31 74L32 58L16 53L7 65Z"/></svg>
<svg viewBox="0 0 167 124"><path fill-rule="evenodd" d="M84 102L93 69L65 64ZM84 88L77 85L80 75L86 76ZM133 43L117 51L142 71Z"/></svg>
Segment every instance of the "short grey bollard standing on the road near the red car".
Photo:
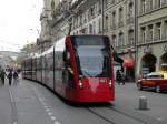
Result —
<svg viewBox="0 0 167 124"><path fill-rule="evenodd" d="M147 97L144 95L139 97L139 110L148 110Z"/></svg>

